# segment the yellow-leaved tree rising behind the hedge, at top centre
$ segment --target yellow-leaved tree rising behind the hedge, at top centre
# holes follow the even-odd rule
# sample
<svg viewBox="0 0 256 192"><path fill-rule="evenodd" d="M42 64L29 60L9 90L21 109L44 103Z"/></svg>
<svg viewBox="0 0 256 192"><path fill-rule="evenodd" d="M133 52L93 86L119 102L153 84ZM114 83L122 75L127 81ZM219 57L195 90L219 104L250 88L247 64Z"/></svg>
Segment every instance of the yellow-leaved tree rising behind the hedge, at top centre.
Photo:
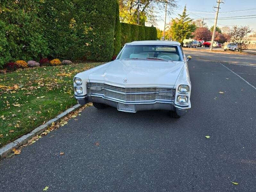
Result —
<svg viewBox="0 0 256 192"><path fill-rule="evenodd" d="M130 24L137 23L137 7L138 0L118 0L120 9L120 21ZM150 25L155 25L157 22L156 15L158 10L164 10L167 3L167 12L171 13L176 7L176 0L141 0L140 8L140 24L145 25L145 22Z"/></svg>

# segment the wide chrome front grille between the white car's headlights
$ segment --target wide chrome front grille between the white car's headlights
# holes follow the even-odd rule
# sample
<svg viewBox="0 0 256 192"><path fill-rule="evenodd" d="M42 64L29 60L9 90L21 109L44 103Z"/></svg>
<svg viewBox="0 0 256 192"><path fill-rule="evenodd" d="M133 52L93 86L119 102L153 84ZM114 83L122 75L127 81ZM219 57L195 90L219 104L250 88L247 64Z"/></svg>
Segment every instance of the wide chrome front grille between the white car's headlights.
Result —
<svg viewBox="0 0 256 192"><path fill-rule="evenodd" d="M168 102L175 99L173 88L124 88L105 83L86 84L87 94L122 102Z"/></svg>

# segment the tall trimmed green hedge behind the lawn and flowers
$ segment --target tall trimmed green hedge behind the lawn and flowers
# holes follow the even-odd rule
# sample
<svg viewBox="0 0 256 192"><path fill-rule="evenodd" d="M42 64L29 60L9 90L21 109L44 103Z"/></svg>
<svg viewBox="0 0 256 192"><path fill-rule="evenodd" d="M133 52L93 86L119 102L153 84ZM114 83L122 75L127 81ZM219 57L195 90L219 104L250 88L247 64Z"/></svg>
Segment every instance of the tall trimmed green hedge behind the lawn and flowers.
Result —
<svg viewBox="0 0 256 192"><path fill-rule="evenodd" d="M1 0L0 68L42 57L109 61L156 28L120 23L117 0Z"/></svg>

